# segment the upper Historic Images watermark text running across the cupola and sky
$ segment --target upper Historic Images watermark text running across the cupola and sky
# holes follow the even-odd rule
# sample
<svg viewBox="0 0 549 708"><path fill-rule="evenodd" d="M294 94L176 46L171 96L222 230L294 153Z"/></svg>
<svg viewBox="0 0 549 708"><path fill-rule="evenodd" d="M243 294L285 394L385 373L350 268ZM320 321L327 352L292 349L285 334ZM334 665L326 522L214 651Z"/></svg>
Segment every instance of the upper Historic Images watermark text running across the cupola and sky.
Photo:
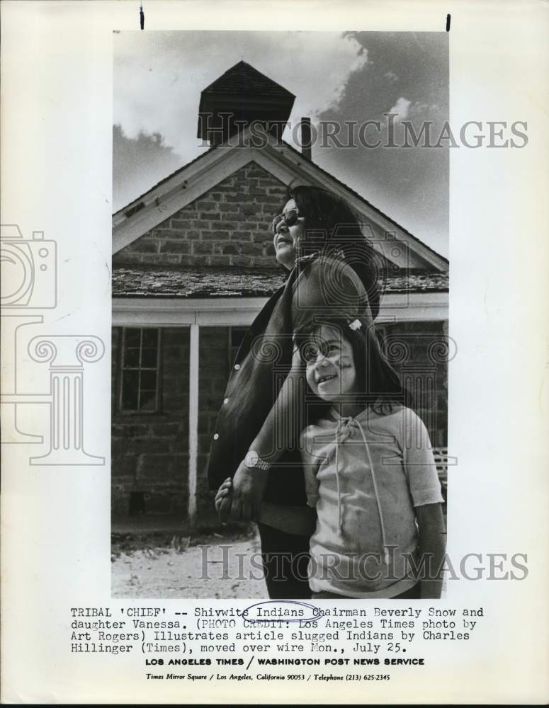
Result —
<svg viewBox="0 0 549 708"><path fill-rule="evenodd" d="M528 145L528 121L526 120L468 120L463 125L451 125L448 120L419 123L402 119L398 113L382 113L382 120L320 120L307 122L304 134L303 122L246 121L234 118L233 113L203 113L200 120L206 123L210 138L213 135L230 137L220 147L254 147L261 149L268 144L268 134L282 135L285 127L298 149L378 149L383 148L523 148ZM247 129L247 130L246 130ZM210 147L203 140L200 147Z"/></svg>

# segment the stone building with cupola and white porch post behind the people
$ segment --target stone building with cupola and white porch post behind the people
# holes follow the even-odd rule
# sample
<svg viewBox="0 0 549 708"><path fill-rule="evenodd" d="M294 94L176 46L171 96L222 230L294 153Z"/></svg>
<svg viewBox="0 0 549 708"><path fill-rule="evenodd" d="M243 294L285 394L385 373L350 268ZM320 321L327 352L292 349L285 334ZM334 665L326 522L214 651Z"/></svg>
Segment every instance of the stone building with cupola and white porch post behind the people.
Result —
<svg viewBox="0 0 549 708"><path fill-rule="evenodd" d="M434 446L446 447L448 261L317 166L307 147L281 141L293 98L239 62L202 93L198 137L210 149L113 216L117 518L193 523L211 508L215 417L242 334L285 279L271 220L295 183L343 197L384 256L380 338Z"/></svg>

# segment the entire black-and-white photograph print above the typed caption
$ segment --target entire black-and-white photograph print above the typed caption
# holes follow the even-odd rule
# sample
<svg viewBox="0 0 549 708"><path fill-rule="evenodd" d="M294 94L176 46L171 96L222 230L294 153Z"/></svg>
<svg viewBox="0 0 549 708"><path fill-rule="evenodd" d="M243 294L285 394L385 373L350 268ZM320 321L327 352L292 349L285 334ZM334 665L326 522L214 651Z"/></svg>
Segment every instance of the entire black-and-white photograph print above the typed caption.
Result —
<svg viewBox="0 0 549 708"><path fill-rule="evenodd" d="M113 47L113 595L439 597L448 33Z"/></svg>

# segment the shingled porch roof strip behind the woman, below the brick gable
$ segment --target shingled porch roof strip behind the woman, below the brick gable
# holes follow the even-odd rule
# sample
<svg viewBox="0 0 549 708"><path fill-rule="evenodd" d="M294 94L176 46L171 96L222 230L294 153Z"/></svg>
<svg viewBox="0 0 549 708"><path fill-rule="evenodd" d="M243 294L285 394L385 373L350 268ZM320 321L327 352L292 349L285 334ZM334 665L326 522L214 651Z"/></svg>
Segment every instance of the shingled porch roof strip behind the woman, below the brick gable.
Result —
<svg viewBox="0 0 549 708"><path fill-rule="evenodd" d="M276 269L119 266L113 297L270 297L286 278ZM413 273L385 280L385 292L448 292L448 273Z"/></svg>

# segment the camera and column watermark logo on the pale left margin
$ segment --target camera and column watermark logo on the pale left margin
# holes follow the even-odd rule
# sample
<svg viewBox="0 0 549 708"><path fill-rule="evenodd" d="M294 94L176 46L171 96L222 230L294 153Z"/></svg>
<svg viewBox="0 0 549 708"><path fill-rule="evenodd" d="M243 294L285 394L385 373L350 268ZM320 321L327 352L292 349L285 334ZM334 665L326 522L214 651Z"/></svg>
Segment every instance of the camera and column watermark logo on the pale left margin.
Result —
<svg viewBox="0 0 549 708"><path fill-rule="evenodd" d="M36 310L57 307L57 244L35 231L25 239L17 224L0 227L1 350L3 357L1 442L11 445L49 445L44 455L29 457L30 464L105 464L105 458L84 450L84 364L100 360L105 345L96 336L34 336L44 322ZM31 329L29 329L31 328ZM50 362L50 385L35 387L31 362ZM22 430L21 419L37 406L49 406L49 426L44 435ZM29 408L30 407L30 408ZM28 416L27 416L28 417ZM28 423L27 423L28 425Z"/></svg>

